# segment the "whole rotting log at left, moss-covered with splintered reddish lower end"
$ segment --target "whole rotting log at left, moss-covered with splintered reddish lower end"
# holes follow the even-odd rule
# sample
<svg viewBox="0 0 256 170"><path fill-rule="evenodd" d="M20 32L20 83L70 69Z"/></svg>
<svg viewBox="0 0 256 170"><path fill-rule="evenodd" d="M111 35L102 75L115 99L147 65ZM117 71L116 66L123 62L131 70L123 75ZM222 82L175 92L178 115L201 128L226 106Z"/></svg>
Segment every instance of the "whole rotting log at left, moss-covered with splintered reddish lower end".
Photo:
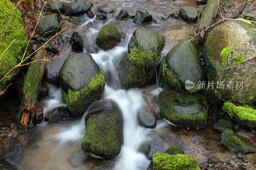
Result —
<svg viewBox="0 0 256 170"><path fill-rule="evenodd" d="M44 69L46 66L47 51L45 48L40 48L36 51L32 61L36 61L30 64L25 78L23 87L23 103L24 109L22 112L22 117L20 123L27 126L29 123L29 118L31 119L36 113L36 104L41 88L41 82L44 75Z"/></svg>

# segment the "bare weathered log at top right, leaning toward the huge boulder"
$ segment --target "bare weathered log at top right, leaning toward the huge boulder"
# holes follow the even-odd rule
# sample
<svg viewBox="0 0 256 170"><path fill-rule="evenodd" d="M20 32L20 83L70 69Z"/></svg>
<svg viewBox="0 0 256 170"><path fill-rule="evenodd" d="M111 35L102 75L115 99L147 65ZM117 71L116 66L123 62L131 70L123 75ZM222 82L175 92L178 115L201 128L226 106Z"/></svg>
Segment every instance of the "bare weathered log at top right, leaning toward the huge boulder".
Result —
<svg viewBox="0 0 256 170"><path fill-rule="evenodd" d="M219 11L219 4L221 0L208 0L206 4L206 9L201 17L201 20L197 26L197 33L201 32L202 30L208 28L209 26L213 25L215 17ZM204 38L204 35L207 30L202 31L199 33L201 38Z"/></svg>

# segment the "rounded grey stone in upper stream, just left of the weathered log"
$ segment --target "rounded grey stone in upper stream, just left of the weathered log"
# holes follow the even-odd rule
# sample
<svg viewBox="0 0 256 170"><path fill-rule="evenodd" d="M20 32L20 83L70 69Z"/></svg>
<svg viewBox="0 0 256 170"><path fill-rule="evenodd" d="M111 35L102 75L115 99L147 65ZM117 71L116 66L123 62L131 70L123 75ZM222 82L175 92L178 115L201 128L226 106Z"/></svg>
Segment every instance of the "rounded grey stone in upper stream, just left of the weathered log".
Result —
<svg viewBox="0 0 256 170"><path fill-rule="evenodd" d="M188 22L196 22L198 10L195 7L185 6L180 9L180 16Z"/></svg>

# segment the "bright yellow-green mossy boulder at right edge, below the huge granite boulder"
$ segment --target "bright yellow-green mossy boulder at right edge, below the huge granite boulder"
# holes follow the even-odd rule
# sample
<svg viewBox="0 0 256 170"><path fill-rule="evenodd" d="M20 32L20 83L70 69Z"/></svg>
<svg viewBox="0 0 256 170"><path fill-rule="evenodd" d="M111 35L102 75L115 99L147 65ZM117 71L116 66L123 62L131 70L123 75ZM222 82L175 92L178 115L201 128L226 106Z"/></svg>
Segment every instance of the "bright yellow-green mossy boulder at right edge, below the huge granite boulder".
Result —
<svg viewBox="0 0 256 170"><path fill-rule="evenodd" d="M225 102L222 110L239 125L249 129L256 127L256 110L248 107L235 106L230 102Z"/></svg>

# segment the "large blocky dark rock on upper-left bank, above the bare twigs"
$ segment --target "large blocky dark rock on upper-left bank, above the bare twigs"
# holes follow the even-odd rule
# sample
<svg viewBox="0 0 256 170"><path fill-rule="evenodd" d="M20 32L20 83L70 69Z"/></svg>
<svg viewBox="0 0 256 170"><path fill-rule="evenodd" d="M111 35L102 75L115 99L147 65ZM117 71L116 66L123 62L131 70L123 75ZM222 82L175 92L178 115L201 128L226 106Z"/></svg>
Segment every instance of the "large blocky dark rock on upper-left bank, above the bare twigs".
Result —
<svg viewBox="0 0 256 170"><path fill-rule="evenodd" d="M52 14L39 19L36 27L38 33L42 37L48 37L50 35L56 34L61 29L59 18L59 14Z"/></svg>

